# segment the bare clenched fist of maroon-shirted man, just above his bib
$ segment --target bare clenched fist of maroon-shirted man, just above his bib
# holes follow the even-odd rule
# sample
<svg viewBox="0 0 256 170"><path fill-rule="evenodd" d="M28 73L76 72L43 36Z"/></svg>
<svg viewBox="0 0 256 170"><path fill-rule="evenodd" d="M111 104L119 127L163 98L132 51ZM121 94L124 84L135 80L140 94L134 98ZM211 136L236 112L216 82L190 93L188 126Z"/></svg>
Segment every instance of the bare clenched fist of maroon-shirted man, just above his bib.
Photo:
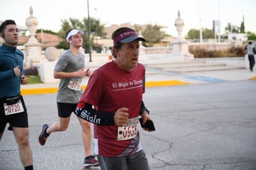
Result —
<svg viewBox="0 0 256 170"><path fill-rule="evenodd" d="M129 113L127 113L129 109L127 108L120 108L114 114L114 125L116 126L123 126L127 124L129 119Z"/></svg>

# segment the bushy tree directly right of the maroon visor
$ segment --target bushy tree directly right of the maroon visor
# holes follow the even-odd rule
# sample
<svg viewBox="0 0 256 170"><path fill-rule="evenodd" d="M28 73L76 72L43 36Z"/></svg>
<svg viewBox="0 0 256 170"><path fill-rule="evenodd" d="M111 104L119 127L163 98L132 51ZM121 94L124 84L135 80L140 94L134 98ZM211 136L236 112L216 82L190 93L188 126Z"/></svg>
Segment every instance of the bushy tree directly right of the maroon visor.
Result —
<svg viewBox="0 0 256 170"><path fill-rule="evenodd" d="M163 40L166 33L162 32L161 26L158 25L147 25L145 30L142 32L142 36L147 40L143 42L144 46L153 46L154 43L160 43Z"/></svg>

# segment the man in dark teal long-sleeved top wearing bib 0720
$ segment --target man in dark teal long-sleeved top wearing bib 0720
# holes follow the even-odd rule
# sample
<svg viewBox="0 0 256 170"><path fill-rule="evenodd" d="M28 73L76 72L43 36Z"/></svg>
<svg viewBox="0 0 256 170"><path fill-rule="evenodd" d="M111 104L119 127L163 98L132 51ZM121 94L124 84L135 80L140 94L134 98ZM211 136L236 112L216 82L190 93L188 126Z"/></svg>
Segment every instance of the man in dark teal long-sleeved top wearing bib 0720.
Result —
<svg viewBox="0 0 256 170"><path fill-rule="evenodd" d="M19 29L14 20L5 20L0 26L0 36L4 40L0 46L0 139L6 124L13 130L19 147L20 160L25 170L33 169L32 151L28 138L28 114L20 83L27 83L23 73L22 51L17 49Z"/></svg>

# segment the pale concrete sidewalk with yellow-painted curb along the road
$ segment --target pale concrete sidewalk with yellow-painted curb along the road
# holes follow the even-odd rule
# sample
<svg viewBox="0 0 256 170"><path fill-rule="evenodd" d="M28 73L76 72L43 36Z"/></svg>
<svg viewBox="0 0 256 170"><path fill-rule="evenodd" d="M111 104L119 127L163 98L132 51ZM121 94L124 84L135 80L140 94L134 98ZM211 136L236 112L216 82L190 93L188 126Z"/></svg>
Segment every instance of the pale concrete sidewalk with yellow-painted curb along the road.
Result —
<svg viewBox="0 0 256 170"><path fill-rule="evenodd" d="M169 85L191 85L195 83L217 83L226 81L240 81L256 79L256 72L247 69L215 70L203 72L163 72L146 67L146 87L169 86ZM83 90L88 78L83 79ZM32 85L21 85L22 95L39 95L45 93L57 93L59 83L40 83Z"/></svg>

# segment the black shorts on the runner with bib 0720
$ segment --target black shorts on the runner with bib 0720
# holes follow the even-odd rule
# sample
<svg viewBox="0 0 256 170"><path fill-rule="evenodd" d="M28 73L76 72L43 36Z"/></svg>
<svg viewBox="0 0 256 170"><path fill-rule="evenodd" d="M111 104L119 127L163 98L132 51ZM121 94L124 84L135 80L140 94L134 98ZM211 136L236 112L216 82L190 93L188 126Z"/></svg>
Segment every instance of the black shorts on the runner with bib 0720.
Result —
<svg viewBox="0 0 256 170"><path fill-rule="evenodd" d="M6 124L9 123L10 127L9 130L12 130L11 127L28 127L28 114L27 114L27 108L25 106L25 102L23 100L23 97L20 95L20 101L22 102L22 106L24 108L24 112L22 113L16 113L16 114L10 114L6 116L4 114L4 100L0 100L0 133L4 132L4 129L6 128Z"/></svg>

